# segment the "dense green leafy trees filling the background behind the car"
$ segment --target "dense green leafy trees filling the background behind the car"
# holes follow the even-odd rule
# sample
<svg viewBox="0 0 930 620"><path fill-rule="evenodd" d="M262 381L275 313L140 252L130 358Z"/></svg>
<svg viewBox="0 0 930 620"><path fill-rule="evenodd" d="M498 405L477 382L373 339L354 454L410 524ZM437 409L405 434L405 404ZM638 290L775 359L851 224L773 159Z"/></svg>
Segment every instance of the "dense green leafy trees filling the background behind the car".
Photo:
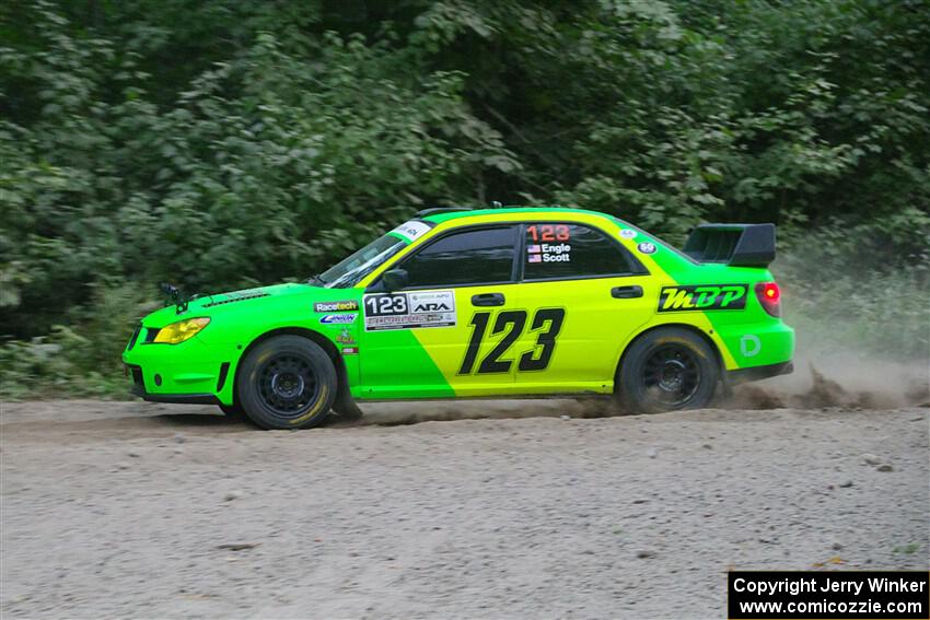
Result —
<svg viewBox="0 0 930 620"><path fill-rule="evenodd" d="M490 200L672 241L775 221L803 313L839 308L853 264L907 295L929 58L918 0L9 0L0 367L82 372L43 351L115 338L85 331L102 291L305 278L418 208ZM864 306L926 347L917 301Z"/></svg>

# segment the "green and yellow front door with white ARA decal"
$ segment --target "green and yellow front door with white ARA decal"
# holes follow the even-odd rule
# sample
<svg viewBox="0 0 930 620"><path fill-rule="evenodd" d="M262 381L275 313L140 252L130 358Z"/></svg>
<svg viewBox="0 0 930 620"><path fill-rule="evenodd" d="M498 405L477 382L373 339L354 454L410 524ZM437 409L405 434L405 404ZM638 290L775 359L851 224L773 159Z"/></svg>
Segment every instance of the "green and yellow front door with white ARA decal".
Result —
<svg viewBox="0 0 930 620"><path fill-rule="evenodd" d="M513 389L505 355L521 325L516 304L519 225L453 230L392 269L407 285L362 299L361 395L364 398L489 396ZM486 313L496 317L480 329ZM520 329L518 329L520 328Z"/></svg>

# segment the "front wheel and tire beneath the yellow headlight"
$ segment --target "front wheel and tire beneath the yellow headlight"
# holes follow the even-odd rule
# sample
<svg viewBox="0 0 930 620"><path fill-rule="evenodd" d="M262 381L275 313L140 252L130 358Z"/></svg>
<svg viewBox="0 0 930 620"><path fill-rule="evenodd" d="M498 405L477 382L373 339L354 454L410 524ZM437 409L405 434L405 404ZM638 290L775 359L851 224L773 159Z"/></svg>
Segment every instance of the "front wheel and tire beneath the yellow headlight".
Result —
<svg viewBox="0 0 930 620"><path fill-rule="evenodd" d="M236 377L245 414L263 429L318 426L336 398L336 369L315 342L276 336L248 352Z"/></svg>

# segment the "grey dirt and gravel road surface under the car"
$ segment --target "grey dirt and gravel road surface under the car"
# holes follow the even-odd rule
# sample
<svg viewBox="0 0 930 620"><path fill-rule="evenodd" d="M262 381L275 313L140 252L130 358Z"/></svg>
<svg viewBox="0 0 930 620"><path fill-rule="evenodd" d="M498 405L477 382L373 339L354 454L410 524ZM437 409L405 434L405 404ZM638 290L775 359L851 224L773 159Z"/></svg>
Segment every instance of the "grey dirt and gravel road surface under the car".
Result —
<svg viewBox="0 0 930 620"><path fill-rule="evenodd" d="M928 568L926 407L597 407L2 403L0 615L721 618L730 568Z"/></svg>

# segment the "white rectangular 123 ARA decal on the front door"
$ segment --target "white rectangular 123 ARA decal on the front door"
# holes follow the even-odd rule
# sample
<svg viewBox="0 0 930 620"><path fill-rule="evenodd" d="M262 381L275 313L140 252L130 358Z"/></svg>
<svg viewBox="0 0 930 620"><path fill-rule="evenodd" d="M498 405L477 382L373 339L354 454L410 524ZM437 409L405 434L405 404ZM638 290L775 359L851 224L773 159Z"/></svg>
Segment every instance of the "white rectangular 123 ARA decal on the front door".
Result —
<svg viewBox="0 0 930 620"><path fill-rule="evenodd" d="M455 293L376 293L365 295L365 331L380 329L415 329L455 325Z"/></svg>

